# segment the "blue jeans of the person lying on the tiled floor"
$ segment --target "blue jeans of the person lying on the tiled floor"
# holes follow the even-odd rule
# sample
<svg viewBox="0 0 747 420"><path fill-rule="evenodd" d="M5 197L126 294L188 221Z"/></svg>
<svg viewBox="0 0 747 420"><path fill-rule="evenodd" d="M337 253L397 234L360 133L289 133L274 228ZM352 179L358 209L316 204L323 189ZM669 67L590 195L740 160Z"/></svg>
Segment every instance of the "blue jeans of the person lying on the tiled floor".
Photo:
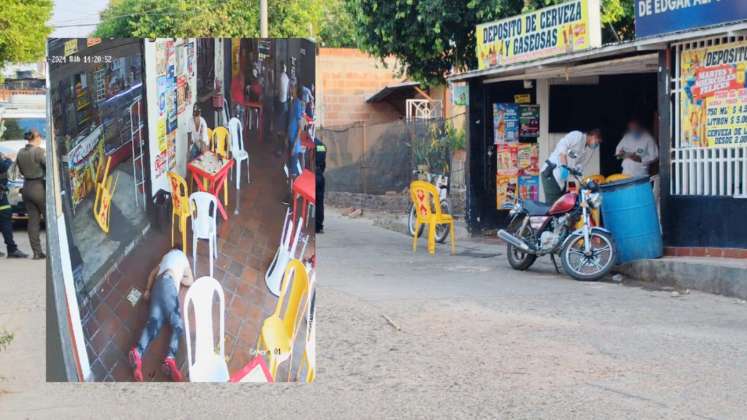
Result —
<svg viewBox="0 0 747 420"><path fill-rule="evenodd" d="M138 352L141 356L145 354L150 342L158 336L161 327L168 321L171 325L171 339L166 357L176 357L184 326L179 313L179 291L174 287L174 280L168 271L156 279L150 293L148 311L148 322L137 342Z"/></svg>

